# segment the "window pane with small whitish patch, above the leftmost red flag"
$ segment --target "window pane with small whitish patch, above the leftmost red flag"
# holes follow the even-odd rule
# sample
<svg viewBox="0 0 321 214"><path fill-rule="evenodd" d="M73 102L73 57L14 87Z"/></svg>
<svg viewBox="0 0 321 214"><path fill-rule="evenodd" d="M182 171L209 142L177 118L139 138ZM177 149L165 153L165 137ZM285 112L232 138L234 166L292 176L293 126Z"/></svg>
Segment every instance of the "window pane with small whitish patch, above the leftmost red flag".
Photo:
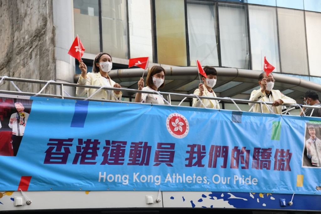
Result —
<svg viewBox="0 0 321 214"><path fill-rule="evenodd" d="M85 53L100 52L98 0L74 0L74 28Z"/></svg>

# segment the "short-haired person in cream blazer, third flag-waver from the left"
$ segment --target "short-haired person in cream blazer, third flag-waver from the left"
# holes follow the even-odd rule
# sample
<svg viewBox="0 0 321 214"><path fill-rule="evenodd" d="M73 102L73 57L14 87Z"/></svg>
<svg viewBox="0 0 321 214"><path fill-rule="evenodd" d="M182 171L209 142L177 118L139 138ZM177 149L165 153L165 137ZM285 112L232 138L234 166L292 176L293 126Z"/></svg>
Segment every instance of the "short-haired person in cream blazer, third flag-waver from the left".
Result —
<svg viewBox="0 0 321 214"><path fill-rule="evenodd" d="M213 91L213 87L216 84L217 71L215 68L210 66L204 66L204 72L206 73L207 78L202 76L202 80L204 84L200 83L198 85L198 89L194 91L194 94L197 96L204 97L216 97L215 92ZM202 99L202 102L206 108L220 108L220 104L218 104L217 100L214 99ZM197 98L193 98L193 107L204 107L201 101Z"/></svg>

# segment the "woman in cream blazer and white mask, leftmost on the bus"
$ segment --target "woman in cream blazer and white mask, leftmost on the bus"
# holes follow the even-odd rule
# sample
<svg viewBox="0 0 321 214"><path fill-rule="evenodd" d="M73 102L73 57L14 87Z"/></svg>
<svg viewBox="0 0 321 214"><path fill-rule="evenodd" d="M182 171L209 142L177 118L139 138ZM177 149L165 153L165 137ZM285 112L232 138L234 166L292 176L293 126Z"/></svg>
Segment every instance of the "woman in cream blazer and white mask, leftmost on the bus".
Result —
<svg viewBox="0 0 321 214"><path fill-rule="evenodd" d="M112 81L108 76L108 73L110 72L112 66L111 56L107 53L97 54L92 66L91 73L87 73L86 64L84 64L84 62L80 60L79 68L81 70L81 75L77 84L121 88L118 83ZM98 89L77 87L76 95L79 97L88 96L94 99L121 100L122 92L119 90L100 90L95 93L97 90Z"/></svg>

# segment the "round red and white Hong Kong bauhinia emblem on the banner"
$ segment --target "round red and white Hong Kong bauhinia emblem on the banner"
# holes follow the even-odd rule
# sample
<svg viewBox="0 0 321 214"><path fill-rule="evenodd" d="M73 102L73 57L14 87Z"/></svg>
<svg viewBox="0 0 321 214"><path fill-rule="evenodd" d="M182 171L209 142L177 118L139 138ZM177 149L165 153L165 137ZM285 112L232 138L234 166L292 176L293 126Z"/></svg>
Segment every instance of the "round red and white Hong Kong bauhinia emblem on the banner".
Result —
<svg viewBox="0 0 321 214"><path fill-rule="evenodd" d="M183 138L188 134L189 124L183 115L173 113L166 119L166 128L173 137Z"/></svg>

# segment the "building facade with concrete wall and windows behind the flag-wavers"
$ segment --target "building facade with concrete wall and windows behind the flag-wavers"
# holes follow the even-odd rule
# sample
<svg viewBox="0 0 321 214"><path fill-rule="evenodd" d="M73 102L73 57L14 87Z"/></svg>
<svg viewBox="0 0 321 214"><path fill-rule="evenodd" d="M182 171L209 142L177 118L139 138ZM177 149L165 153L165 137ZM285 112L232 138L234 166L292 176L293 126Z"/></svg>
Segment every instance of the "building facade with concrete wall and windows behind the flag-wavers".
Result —
<svg viewBox="0 0 321 214"><path fill-rule="evenodd" d="M217 68L214 91L218 97L248 99L250 92L258 88L257 71L263 70L266 57L275 67L273 73L284 79L275 83L284 94L301 103L306 90L319 92L318 0L1 2L1 24L5 26L0 33L5 50L0 63L3 76L76 82L80 74L78 61L67 53L78 35L85 47L82 59L88 72L96 54L107 52L113 57L110 76L123 88L137 89L143 72L122 79L120 73L127 72L128 59L148 56L149 67L159 64L179 70L176 77L166 76L165 92L191 94L199 83L199 60L203 66ZM19 58L18 66L15 57ZM190 68L195 75L185 72ZM236 69L238 74L253 71L255 75L233 81L228 78L229 69ZM287 78L306 84L287 84ZM307 82L311 82L310 88L306 88ZM13 90L9 83L1 87ZM54 87L46 90L59 91ZM75 92L73 88L65 90ZM124 100L133 98L133 93L124 93ZM184 105L191 105L191 100Z"/></svg>

